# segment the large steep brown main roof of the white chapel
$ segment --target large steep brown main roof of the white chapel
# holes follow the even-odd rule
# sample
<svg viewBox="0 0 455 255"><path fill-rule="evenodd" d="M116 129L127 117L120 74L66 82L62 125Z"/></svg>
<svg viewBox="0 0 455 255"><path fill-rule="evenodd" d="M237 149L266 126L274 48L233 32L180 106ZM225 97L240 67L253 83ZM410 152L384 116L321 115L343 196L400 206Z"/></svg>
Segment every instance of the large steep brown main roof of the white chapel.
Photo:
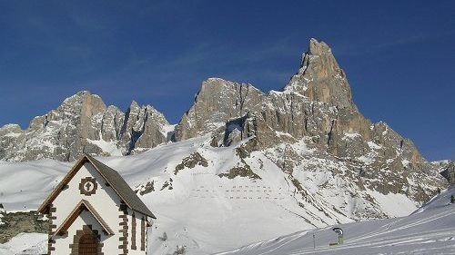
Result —
<svg viewBox="0 0 455 255"><path fill-rule="evenodd" d="M126 183L126 181L112 168L106 166L106 164L97 161L92 156L84 154L80 160L76 162L73 168L66 173L66 176L58 184L56 189L45 199L43 204L39 207L38 211L45 213L48 210L48 205L56 199L58 194L64 189L65 185L71 181L75 176L76 172L84 165L84 163L90 162L96 169L97 172L107 181L109 186L116 191L116 194L126 203L126 205L133 211L143 213L153 219L157 219L151 211L148 210L147 206L143 201L137 197L136 192Z"/></svg>

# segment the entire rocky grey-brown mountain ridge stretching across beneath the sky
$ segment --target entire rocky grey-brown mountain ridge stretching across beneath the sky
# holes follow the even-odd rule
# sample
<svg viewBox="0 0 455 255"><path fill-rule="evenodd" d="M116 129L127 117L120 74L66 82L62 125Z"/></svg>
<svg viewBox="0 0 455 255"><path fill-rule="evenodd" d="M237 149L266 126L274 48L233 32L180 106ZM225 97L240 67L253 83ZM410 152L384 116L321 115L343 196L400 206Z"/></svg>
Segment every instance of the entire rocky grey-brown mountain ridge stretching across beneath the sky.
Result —
<svg viewBox="0 0 455 255"><path fill-rule="evenodd" d="M422 204L448 185L413 142L359 113L347 75L329 45L315 39L280 92L209 78L176 126L152 106L133 101L123 113L97 95L80 92L35 117L25 131L14 125L0 128L0 159L67 162L82 152L129 155L192 139L204 140L201 148L209 144L216 151L233 150L232 164L218 165L219 156L209 148L188 151L179 154L175 175L187 164L214 161L212 167L222 169L218 178L254 182L262 178L264 162L273 162L298 203L333 207L329 211L338 215L335 219L389 217L375 198L404 194ZM165 180L167 186L174 178ZM337 202L322 201L328 197Z"/></svg>

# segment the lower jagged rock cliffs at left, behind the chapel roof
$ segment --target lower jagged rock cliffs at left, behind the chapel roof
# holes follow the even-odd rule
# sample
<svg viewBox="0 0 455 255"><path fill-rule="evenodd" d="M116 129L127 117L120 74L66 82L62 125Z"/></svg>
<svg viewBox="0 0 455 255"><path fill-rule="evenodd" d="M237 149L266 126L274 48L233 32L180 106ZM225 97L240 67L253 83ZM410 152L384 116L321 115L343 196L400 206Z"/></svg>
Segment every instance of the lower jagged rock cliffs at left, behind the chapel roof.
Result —
<svg viewBox="0 0 455 255"><path fill-rule="evenodd" d="M11 124L0 128L0 159L74 161L83 152L125 155L166 142L163 114L136 102L132 107L125 114L106 107L95 94L76 93L56 110L35 117L24 131Z"/></svg>

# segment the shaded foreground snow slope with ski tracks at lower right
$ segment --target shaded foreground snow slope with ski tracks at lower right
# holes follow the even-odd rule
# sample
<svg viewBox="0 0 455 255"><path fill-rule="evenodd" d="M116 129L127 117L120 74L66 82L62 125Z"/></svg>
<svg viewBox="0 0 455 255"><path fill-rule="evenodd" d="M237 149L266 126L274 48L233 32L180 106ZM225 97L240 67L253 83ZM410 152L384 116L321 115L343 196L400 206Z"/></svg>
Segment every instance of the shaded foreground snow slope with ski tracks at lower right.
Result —
<svg viewBox="0 0 455 255"><path fill-rule="evenodd" d="M299 231L218 255L455 254L455 205L447 203L454 192L455 188L443 192L407 217L339 225L345 236L344 244L339 246L329 247L338 237L332 226Z"/></svg>

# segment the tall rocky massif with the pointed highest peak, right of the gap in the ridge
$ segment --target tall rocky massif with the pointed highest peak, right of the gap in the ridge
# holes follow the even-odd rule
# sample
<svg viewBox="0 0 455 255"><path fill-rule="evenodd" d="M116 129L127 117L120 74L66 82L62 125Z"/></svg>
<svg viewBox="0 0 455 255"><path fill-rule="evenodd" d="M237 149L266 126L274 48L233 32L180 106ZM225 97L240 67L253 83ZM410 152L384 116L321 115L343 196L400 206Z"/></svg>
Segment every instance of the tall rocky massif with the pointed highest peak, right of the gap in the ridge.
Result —
<svg viewBox="0 0 455 255"><path fill-rule="evenodd" d="M250 84L215 78L202 83L175 139L208 133L212 146L249 138L248 150L269 152L295 180L306 161L319 158L345 165L344 177L360 190L407 192L418 202L444 183L410 140L359 113L346 74L329 46L315 39L282 91L266 94ZM295 145L299 142L314 151L302 152Z"/></svg>

